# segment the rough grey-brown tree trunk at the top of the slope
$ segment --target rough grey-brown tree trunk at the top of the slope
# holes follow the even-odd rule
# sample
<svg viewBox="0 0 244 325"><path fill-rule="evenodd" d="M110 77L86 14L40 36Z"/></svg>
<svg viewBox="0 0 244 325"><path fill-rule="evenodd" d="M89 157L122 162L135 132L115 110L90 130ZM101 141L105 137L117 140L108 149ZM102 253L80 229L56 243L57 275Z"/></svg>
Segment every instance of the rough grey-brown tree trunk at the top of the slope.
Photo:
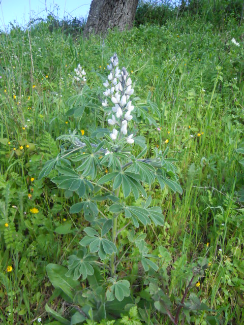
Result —
<svg viewBox="0 0 244 325"><path fill-rule="evenodd" d="M131 28L136 14L138 0L93 0L84 29L84 35L90 32L104 34L108 28Z"/></svg>

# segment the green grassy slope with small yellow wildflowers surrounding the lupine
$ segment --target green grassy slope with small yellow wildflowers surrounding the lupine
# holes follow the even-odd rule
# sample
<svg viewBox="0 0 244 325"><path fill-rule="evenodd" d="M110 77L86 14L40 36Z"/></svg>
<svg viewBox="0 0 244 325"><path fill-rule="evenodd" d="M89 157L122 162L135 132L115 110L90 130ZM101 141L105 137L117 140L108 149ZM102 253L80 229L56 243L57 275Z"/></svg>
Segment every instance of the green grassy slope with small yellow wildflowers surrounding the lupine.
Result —
<svg viewBox="0 0 244 325"><path fill-rule="evenodd" d="M74 199L65 198L51 177L38 180L38 174L44 162L59 152L58 136L77 125L90 134L100 125L99 112L94 118L94 112L86 111L79 121L67 117L67 101L75 93L72 75L77 64L87 72L87 84L102 89L100 75L114 52L131 72L139 103L151 98L157 104L161 131L151 125L139 132L151 152L164 150L169 140L184 188L182 196L161 191L157 184L151 188L154 204L162 207L166 221L163 229L152 228L147 234L152 250L156 243L165 246L173 269L177 261L191 265L206 256L210 266L193 291L221 323L244 323L244 210L239 194L243 166L241 154L235 152L243 147L241 35L243 27L233 20L220 31L190 18L169 20L162 27L113 31L105 39L72 38L62 29L50 33L45 22L28 31L14 28L1 34L0 319L4 324L35 324L38 317L48 323L45 303L61 304L51 297L45 266L65 261L84 224L80 216L69 213ZM240 47L231 43L233 37ZM30 212L34 207L38 214ZM55 233L65 222L77 230L75 237ZM7 266L13 267L12 272L6 272ZM168 293L182 293L176 271ZM169 323L166 316L160 317L160 323ZM191 321L205 324L203 318Z"/></svg>

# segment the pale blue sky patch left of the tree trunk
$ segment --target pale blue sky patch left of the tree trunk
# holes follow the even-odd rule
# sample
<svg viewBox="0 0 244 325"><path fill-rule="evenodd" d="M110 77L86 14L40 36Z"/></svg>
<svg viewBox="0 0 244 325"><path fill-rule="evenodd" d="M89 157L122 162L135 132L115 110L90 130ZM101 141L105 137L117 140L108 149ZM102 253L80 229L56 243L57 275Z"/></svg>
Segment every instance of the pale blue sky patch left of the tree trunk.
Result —
<svg viewBox="0 0 244 325"><path fill-rule="evenodd" d="M30 12L32 18L46 17L50 11L56 16L56 6L59 7L59 18L86 17L91 2L92 0L0 0L0 28L7 28L9 22L14 20L21 26L25 25Z"/></svg>

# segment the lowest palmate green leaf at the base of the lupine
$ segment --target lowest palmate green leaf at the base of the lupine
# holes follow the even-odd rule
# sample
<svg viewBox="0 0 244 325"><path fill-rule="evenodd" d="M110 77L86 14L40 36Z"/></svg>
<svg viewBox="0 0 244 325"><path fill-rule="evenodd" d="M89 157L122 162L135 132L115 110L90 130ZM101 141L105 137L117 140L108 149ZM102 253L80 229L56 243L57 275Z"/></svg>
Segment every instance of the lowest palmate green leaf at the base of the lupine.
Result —
<svg viewBox="0 0 244 325"><path fill-rule="evenodd" d="M109 278L109 281L113 284L108 287L106 291L106 297L108 301L113 301L115 298L118 301L122 301L125 297L129 297L131 294L130 291L130 282L127 280L116 281L113 278Z"/></svg>

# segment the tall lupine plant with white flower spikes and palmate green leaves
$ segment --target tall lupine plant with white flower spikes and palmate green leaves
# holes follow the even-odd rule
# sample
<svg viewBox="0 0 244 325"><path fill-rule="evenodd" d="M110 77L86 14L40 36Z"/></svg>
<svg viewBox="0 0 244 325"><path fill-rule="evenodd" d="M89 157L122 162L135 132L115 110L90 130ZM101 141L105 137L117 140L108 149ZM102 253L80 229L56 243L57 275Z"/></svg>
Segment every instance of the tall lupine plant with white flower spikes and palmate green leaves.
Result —
<svg viewBox="0 0 244 325"><path fill-rule="evenodd" d="M68 111L68 115L80 117L86 106L99 107L107 127L97 128L89 136L75 130L59 137L63 141L59 155L47 161L39 176L47 176L55 166L58 176L52 182L76 201L70 213L79 214L82 222L89 223L80 233L79 248L68 258L68 270L52 264L47 267L54 287L64 290L67 286L64 291L69 303L80 306L76 316L72 316L78 319L105 318L113 309L112 301L122 302L129 296L129 302L133 301L128 274L123 278L118 275L133 252L138 251L133 263L140 263L144 272L157 272L159 256L148 253L146 229L150 225L163 226L164 215L161 207L154 206L146 189L158 182L161 189L168 186L174 192L182 192L173 165L176 159L166 157L169 149L148 152L144 138L138 135L137 122L150 121L149 113L142 115L139 105L133 105L132 80L126 68L118 68L116 53L107 69L109 75L103 83L106 89L100 105L91 105L93 96L84 85L85 72L80 65L75 69L78 94ZM140 231L141 226L144 232ZM127 234L130 245L124 246L121 234ZM66 285L60 286L56 281L58 272L65 277ZM74 294L69 285L76 287L80 278L84 283L88 279L89 287ZM47 310L51 309L47 306Z"/></svg>

